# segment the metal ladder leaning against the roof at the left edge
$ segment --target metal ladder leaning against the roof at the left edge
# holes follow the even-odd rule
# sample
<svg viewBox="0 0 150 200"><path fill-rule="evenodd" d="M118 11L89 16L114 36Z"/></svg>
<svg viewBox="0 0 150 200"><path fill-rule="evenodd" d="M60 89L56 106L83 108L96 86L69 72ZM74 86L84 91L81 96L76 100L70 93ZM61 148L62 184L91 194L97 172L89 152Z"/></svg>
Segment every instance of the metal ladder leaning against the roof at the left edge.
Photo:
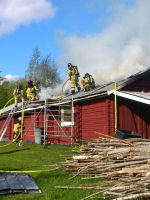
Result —
<svg viewBox="0 0 150 200"><path fill-rule="evenodd" d="M13 109L10 111L10 113L8 114L8 117L7 117L5 123L3 124L3 126L2 126L2 128L1 128L1 130L0 130L0 141L2 141L2 138L3 138L3 136L4 136L4 134L5 134L6 130L7 130L8 125L9 125L10 122L11 122L11 119L12 119L12 117L13 117L13 115L14 115L14 112L15 112L15 109L13 108Z"/></svg>

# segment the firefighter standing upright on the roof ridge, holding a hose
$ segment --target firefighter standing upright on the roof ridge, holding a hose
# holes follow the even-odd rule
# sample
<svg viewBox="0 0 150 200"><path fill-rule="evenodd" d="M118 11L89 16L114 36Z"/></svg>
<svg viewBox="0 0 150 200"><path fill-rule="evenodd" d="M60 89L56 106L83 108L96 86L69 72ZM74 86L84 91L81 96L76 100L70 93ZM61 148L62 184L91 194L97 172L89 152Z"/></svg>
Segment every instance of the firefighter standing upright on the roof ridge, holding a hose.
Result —
<svg viewBox="0 0 150 200"><path fill-rule="evenodd" d="M71 94L75 93L75 87L77 87L78 92L80 92L80 90L81 90L81 87L79 84L80 74L79 74L77 66L74 66L71 63L68 63L68 75L69 75L70 81L71 81L71 84L70 84Z"/></svg>

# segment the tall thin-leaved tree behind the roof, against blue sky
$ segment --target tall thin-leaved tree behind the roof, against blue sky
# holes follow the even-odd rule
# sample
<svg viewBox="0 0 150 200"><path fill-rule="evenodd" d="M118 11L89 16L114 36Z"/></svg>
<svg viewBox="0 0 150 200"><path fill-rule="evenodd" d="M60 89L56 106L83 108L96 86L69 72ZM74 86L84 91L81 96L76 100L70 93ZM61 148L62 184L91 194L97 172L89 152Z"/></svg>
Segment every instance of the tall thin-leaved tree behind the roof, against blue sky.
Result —
<svg viewBox="0 0 150 200"><path fill-rule="evenodd" d="M26 70L25 78L35 82L40 81L43 87L54 88L61 82L55 61L51 59L50 55L44 58L41 57L37 48L33 49L33 55Z"/></svg>

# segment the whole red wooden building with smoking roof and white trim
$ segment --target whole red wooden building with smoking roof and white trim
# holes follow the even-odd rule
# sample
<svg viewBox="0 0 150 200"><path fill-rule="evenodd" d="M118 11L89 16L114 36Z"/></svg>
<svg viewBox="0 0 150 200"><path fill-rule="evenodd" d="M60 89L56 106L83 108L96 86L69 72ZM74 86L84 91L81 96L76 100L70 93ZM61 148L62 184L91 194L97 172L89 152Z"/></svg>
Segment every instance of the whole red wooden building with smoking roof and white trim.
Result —
<svg viewBox="0 0 150 200"><path fill-rule="evenodd" d="M150 138L150 69L117 83L117 128L137 132ZM76 93L62 100L33 102L25 109L23 139L35 141L35 129L40 129L43 141L68 143L79 139L97 138L95 132L114 135L114 83L97 86L89 92ZM21 104L19 104L21 105ZM0 128L13 105L3 111ZM5 137L13 137L14 119L20 116L18 107Z"/></svg>

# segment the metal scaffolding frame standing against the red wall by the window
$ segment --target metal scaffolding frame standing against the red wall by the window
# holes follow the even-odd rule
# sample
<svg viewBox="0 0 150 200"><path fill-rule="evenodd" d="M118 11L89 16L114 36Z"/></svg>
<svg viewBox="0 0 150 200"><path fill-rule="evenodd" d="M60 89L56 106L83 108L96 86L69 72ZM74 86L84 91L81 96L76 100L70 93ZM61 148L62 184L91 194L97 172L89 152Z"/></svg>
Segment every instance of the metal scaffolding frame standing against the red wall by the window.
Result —
<svg viewBox="0 0 150 200"><path fill-rule="evenodd" d="M40 105L40 106L39 106ZM22 137L34 137L35 128L40 129L41 142L45 145L55 140L73 143L74 106L73 98L68 103L45 98L42 104L26 109Z"/></svg>

